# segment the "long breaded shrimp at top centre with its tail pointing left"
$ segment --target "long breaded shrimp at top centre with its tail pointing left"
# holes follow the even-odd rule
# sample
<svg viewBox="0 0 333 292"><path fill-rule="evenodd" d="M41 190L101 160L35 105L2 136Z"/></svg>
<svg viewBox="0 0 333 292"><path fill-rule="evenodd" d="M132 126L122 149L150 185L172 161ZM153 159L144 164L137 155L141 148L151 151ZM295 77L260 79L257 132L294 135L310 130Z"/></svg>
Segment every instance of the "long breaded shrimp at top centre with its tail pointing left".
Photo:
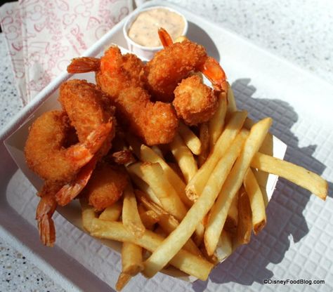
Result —
<svg viewBox="0 0 333 292"><path fill-rule="evenodd" d="M79 62L79 59L74 59L67 67L68 72L74 73ZM86 59L81 62L86 68ZM171 142L178 128L176 112L169 104L150 101L150 94L143 88L139 77L143 68L143 62L135 55L122 55L119 48L112 46L100 58L96 81L117 108L119 123L128 126L147 145L166 144ZM94 71L94 66L91 71Z"/></svg>

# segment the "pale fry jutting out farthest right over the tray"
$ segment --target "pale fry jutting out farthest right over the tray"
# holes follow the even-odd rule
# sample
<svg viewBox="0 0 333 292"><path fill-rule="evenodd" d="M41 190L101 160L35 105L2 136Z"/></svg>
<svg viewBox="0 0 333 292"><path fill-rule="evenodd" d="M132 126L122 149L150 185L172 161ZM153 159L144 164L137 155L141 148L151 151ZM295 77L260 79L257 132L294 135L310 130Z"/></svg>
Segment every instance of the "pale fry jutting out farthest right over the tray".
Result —
<svg viewBox="0 0 333 292"><path fill-rule="evenodd" d="M251 166L259 171L279 175L292 183L309 190L325 201L328 192L328 183L318 174L308 171L306 168L292 164L266 154L257 153Z"/></svg>

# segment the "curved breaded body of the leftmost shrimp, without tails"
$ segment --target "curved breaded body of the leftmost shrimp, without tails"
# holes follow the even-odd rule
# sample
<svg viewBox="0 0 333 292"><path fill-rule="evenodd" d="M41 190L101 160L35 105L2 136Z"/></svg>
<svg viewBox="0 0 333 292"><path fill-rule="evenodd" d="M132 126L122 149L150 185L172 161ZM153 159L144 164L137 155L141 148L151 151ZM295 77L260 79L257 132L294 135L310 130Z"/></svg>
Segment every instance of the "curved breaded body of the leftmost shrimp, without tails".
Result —
<svg viewBox="0 0 333 292"><path fill-rule="evenodd" d="M44 180L67 181L77 173L75 164L63 147L71 131L65 112L45 112L32 124L25 143L27 166Z"/></svg>

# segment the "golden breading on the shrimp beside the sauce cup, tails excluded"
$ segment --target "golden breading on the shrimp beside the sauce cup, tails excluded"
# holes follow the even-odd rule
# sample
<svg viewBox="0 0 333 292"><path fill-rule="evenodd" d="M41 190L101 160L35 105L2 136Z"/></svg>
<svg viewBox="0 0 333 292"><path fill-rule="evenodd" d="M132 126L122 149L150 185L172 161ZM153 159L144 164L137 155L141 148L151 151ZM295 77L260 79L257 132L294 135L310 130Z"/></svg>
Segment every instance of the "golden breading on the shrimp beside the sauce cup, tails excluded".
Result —
<svg viewBox="0 0 333 292"><path fill-rule="evenodd" d="M203 46L182 41L157 52L145 66L141 78L156 100L171 102L178 83L191 71L199 71L206 59Z"/></svg>

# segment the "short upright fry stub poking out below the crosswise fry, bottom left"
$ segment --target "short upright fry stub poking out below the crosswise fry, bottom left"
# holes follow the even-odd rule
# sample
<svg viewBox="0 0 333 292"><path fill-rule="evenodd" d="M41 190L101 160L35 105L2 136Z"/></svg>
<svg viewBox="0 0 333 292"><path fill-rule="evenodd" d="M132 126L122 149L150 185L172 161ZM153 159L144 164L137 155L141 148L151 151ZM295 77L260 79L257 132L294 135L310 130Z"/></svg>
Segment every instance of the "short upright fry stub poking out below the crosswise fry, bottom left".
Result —
<svg viewBox="0 0 333 292"><path fill-rule="evenodd" d="M142 247L124 241L122 244L122 272L135 276L142 270Z"/></svg>

